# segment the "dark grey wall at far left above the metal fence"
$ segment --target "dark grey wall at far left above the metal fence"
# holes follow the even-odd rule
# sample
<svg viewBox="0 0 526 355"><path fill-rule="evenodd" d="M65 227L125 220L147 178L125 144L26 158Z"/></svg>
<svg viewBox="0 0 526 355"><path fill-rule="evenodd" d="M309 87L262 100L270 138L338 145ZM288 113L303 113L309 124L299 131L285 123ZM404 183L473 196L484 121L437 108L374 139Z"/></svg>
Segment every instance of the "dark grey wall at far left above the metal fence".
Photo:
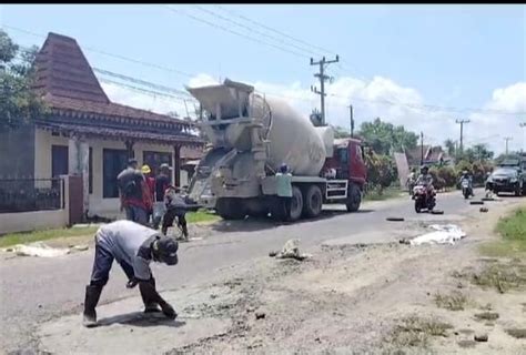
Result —
<svg viewBox="0 0 526 355"><path fill-rule="evenodd" d="M0 132L0 179L33 178L34 126Z"/></svg>

